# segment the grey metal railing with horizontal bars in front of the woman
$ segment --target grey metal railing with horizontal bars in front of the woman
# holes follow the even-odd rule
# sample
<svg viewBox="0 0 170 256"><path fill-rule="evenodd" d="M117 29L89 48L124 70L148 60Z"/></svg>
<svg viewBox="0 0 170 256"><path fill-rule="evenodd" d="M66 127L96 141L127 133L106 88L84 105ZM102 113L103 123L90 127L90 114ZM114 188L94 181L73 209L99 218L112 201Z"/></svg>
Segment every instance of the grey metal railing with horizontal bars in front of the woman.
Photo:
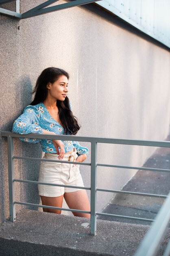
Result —
<svg viewBox="0 0 170 256"><path fill-rule="evenodd" d="M98 164L97 163L97 144L98 143L109 143L109 144L124 144L124 145L139 145L139 146L155 146L155 147L166 147L170 148L170 141L145 141L145 140L134 140L134 139L113 139L113 138L98 138L98 137L82 137L76 136L77 141L86 141L91 143L91 163L83 163L78 162L80 165L88 165L91 166L91 186L90 187L80 187L80 186L68 186L68 185L61 185L61 184L50 184L45 182L37 182L31 180L17 180L14 177L14 159L28 159L34 161L46 161L46 162L61 162L61 160L50 160L50 159L42 159L42 158L34 158L34 157L17 157L13 155L13 137L23 137L23 138L35 138L35 139L62 139L62 140L75 140L74 135L44 135L44 134L36 134L30 133L26 135L16 134L12 132L1 132L1 136L7 137L8 142L8 171L9 171L9 209L10 209L10 220L15 221L15 204L25 204L37 207L44 207L49 209L59 209L63 211L75 211L75 212L82 212L82 213L90 213L90 234L96 235L96 216L114 216L117 218L126 218L132 220L142 220L153 222L153 219L146 219L146 218L137 218L133 216L122 216L116 214L109 214L109 213L101 213L96 212L96 193L97 191L105 191L105 192L113 192L113 193L124 193L124 194L132 194L132 195L142 195L142 196L150 196L150 197L159 197L159 198L167 198L167 195L155 195L155 194L148 194L148 193L137 193L131 191L122 191L122 190L112 190L112 189L100 189L97 188L97 166L106 166L106 167L116 167L116 168L126 168L126 169L137 169L137 170L148 170L148 171L158 171L158 172L169 172L168 169L160 169L160 168L146 168L146 167L136 167L136 166L120 166L120 165L111 165L111 164ZM70 161L62 161L63 163L70 163ZM46 205L40 204L31 204L26 202L16 202L15 201L15 189L14 189L14 182L26 182L26 183L33 183L33 184L45 184L50 186L64 186L64 187L77 187L81 189L88 189L91 190L91 211L83 211L78 209L65 209L60 207L50 207Z"/></svg>

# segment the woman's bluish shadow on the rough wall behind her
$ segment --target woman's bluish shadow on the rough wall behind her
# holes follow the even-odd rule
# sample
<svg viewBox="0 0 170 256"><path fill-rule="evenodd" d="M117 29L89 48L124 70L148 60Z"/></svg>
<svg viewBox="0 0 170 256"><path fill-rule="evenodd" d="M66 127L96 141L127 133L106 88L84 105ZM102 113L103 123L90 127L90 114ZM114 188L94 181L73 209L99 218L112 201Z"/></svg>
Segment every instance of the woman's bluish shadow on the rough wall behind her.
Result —
<svg viewBox="0 0 170 256"><path fill-rule="evenodd" d="M22 115L24 108L30 105L32 101L32 82L30 77L24 76L21 78L21 81L18 83L20 86L20 99L18 95L15 96L16 105L18 109L20 109L20 113L17 113L17 119L20 115ZM18 104L19 103L19 104ZM13 120L13 121L14 121ZM11 129L12 130L12 126ZM35 157L41 158L42 157L42 149L39 143L33 144L24 141L20 141L19 138L14 139L14 155L22 156L22 157ZM27 160L27 159L15 159L14 160L14 168L15 168L15 178L20 180L33 180L37 181L39 177L39 168L41 162ZM24 182L15 182L15 201L19 202L28 202L33 204L40 203L40 196L38 194L38 186L37 184L30 184ZM17 205L16 204L16 212L21 209L32 209L38 210L39 207L36 206L26 206L26 205ZM41 208L40 208L41 209Z"/></svg>

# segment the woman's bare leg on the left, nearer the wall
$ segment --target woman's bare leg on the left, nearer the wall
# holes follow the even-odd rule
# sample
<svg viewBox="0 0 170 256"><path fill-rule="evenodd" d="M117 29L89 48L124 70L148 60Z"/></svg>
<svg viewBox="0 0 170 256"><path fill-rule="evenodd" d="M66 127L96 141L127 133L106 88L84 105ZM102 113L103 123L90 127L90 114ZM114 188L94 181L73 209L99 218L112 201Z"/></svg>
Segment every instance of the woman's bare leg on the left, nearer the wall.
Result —
<svg viewBox="0 0 170 256"><path fill-rule="evenodd" d="M40 196L41 196L41 201L43 205L62 207L63 195L56 196L56 197L50 197L50 196L44 196L44 195L40 195ZM57 209L49 209L49 208L43 207L43 211L61 214L61 210L57 210Z"/></svg>

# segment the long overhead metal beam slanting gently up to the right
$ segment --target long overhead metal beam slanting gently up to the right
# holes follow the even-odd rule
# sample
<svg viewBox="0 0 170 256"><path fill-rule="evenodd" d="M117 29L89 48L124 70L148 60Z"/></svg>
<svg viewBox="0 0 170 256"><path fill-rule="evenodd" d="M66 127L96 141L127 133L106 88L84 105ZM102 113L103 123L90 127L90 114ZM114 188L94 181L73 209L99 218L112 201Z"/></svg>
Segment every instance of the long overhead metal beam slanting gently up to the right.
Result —
<svg viewBox="0 0 170 256"><path fill-rule="evenodd" d="M93 2L97 2L97 1L101 1L101 0L74 0L68 3L64 3L64 4L58 4L52 7L47 7L45 9L38 9L36 11L27 11L25 13L22 14L22 18L30 18L33 16L38 16L41 14L45 14L45 13L50 13L53 11L59 11L62 9L66 9L66 8L70 8L70 7L74 7L74 6L78 6L78 5L83 5L83 4L89 4L89 3L93 3ZM46 3L44 3L46 4ZM49 4L48 4L49 5ZM38 6L39 7L39 6ZM36 8L36 7L35 7Z"/></svg>

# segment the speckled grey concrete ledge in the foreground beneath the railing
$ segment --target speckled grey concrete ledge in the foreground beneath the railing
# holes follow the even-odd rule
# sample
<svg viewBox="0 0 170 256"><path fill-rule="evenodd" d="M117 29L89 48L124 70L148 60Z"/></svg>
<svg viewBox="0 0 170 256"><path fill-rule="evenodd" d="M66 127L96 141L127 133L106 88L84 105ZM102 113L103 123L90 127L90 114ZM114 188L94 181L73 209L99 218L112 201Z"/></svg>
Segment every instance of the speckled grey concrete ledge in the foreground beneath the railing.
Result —
<svg viewBox="0 0 170 256"><path fill-rule="evenodd" d="M4 256L133 256L148 225L97 220L97 235L90 235L90 219L22 209L16 221L0 226L0 255ZM170 239L166 231L157 256Z"/></svg>

